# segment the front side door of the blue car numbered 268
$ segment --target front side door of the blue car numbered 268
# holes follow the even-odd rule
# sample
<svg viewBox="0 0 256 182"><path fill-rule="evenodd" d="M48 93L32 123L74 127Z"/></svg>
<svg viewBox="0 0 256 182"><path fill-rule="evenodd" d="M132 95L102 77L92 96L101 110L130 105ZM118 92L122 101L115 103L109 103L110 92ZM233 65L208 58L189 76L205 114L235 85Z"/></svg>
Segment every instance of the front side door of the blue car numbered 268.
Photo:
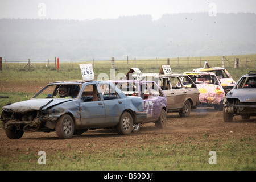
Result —
<svg viewBox="0 0 256 182"><path fill-rule="evenodd" d="M82 126L100 127L105 125L105 105L95 83L87 84L82 92L80 117Z"/></svg>

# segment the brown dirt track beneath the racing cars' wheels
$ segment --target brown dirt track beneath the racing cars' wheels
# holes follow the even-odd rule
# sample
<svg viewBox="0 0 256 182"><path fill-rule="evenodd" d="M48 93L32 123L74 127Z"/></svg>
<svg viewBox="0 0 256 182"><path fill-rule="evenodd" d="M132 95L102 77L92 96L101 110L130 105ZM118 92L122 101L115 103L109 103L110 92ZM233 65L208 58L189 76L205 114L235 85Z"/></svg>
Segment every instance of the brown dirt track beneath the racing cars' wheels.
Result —
<svg viewBox="0 0 256 182"><path fill-rule="evenodd" d="M102 152L108 148L157 145L166 142L164 138L168 138L168 143L176 144L183 143L188 137L200 141L205 135L210 140L228 141L229 138L254 138L255 128L256 117L243 121L237 116L232 123L225 123L222 112L213 109L194 109L188 118L180 118L177 113L168 113L166 129L156 129L154 123L147 123L138 133L125 136L110 129L98 129L89 130L68 140L57 138L55 132L24 133L21 139L9 139L1 128L0 156L28 154L31 151L37 154L41 150L47 154L65 151Z"/></svg>

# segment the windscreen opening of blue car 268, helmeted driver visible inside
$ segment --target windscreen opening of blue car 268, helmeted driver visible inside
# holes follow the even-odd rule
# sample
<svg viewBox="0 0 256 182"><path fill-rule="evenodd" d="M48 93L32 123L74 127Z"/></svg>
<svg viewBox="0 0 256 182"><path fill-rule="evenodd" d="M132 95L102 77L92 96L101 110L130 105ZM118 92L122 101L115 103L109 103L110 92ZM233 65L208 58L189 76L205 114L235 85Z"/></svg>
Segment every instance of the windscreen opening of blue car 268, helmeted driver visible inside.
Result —
<svg viewBox="0 0 256 182"><path fill-rule="evenodd" d="M80 89L80 84L47 85L32 98L76 98Z"/></svg>

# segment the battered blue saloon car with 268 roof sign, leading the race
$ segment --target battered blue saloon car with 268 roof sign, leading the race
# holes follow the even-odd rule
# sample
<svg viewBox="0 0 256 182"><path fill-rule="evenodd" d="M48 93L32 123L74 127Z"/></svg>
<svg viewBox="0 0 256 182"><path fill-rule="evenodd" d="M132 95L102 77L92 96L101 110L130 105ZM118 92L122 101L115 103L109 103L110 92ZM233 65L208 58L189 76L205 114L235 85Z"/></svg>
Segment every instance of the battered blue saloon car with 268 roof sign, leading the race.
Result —
<svg viewBox="0 0 256 182"><path fill-rule="evenodd" d="M9 138L24 132L56 131L60 139L88 129L114 128L130 134L147 117L141 97L126 96L109 81L57 81L30 100L3 107L1 120Z"/></svg>

